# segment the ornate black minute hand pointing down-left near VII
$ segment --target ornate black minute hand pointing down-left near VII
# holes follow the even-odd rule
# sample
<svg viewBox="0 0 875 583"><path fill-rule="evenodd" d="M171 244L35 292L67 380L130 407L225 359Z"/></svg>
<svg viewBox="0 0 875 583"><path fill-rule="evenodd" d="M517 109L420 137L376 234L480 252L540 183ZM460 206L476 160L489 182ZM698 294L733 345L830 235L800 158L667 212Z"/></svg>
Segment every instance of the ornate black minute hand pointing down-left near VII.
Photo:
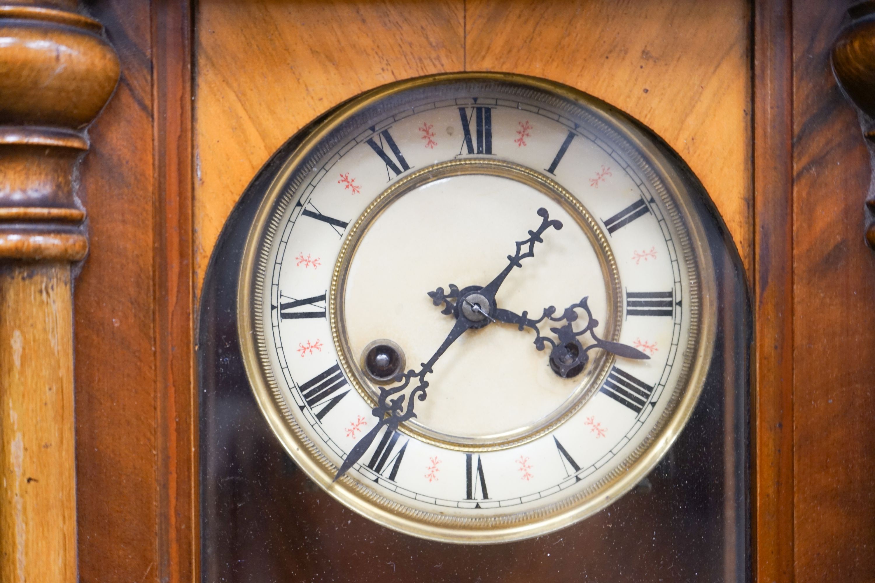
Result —
<svg viewBox="0 0 875 583"><path fill-rule="evenodd" d="M374 426L374 428L368 431L367 434L362 435L359 442L356 443L350 450L349 454L346 455L346 459L343 461L339 470L337 470L337 475L334 476L334 482L337 482L341 475L346 474L346 470L352 468L355 462L358 462L361 459L361 456L365 455L367 448L370 447L374 438L376 438L377 434L380 433L380 430L383 427L388 427L386 431L392 432L395 431L395 429L398 428L398 425L402 422L416 417L416 413L413 412L416 400L423 401L428 397L428 393L425 390L428 388L429 382L425 380L425 375L432 372L431 367L437 362L437 359L444 354L446 349L450 348L450 344L454 343L458 337L465 333L465 330L472 328L474 324L475 323L465 318L465 316L458 318L456 324L452 327L452 330L450 330L450 334L444 339L444 343L440 345L433 355L431 355L427 363L422 363L422 368L420 368L419 371L411 369L407 372L396 375L395 382L402 383L401 385L392 387L391 389L387 389L383 386L379 387L380 397L377 400L377 406L371 410L371 413L373 413L374 417L380 421ZM399 392L404 391L414 378L418 380L419 384L414 387L409 395L407 395L406 408L404 407L404 395L399 395L398 397L395 397L395 399L389 399L390 397L397 395Z"/></svg>

